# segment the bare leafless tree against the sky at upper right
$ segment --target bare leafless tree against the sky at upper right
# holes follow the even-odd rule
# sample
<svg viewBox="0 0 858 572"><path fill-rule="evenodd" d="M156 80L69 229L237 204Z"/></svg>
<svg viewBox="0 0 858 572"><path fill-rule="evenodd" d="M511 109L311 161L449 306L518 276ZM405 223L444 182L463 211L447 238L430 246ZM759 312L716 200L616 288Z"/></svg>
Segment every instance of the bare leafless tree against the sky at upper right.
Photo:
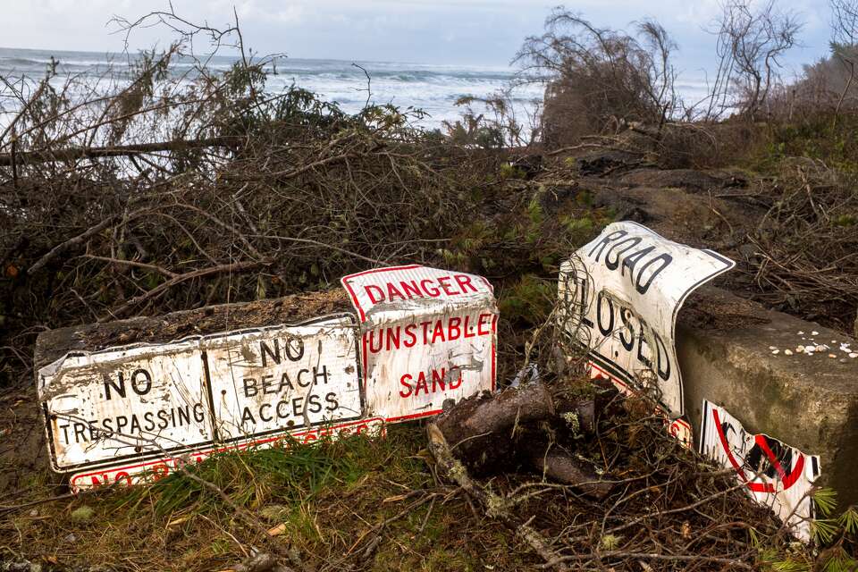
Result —
<svg viewBox="0 0 858 572"><path fill-rule="evenodd" d="M780 56L796 44L802 22L795 13L781 11L774 0L753 8L751 0L721 4L718 25L719 72L712 88L709 118L728 107L736 90L742 114L752 121L778 80Z"/></svg>

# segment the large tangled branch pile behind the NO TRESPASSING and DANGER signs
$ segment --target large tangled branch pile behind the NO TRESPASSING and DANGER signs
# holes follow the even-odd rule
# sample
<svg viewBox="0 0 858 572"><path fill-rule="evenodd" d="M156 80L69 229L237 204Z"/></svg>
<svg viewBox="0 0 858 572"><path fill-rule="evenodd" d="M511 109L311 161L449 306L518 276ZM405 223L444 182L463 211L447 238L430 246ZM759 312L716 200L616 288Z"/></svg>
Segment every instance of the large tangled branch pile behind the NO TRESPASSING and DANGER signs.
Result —
<svg viewBox="0 0 858 572"><path fill-rule="evenodd" d="M215 73L177 45L95 86L50 71L4 83L0 359L26 360L37 327L282 296L437 256L496 160L392 106L349 115L300 88L266 92L267 63Z"/></svg>

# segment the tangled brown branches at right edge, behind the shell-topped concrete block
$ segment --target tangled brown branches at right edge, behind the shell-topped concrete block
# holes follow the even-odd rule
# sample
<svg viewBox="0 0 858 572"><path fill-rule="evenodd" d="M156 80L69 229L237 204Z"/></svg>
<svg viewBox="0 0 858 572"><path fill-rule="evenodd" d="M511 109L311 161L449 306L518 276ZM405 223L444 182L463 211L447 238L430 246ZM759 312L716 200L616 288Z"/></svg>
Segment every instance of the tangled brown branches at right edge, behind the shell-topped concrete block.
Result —
<svg viewBox="0 0 858 572"><path fill-rule="evenodd" d="M784 164L749 197L770 205L740 282L767 304L852 332L858 306L854 175L811 160Z"/></svg>

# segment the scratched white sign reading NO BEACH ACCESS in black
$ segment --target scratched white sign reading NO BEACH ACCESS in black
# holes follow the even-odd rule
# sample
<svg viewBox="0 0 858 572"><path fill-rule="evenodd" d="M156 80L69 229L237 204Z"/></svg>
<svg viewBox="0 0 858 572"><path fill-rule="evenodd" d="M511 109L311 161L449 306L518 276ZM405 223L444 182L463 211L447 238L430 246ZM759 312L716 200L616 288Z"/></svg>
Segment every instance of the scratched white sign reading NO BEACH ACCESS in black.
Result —
<svg viewBox="0 0 858 572"><path fill-rule="evenodd" d="M201 342L218 442L362 416L350 315Z"/></svg>

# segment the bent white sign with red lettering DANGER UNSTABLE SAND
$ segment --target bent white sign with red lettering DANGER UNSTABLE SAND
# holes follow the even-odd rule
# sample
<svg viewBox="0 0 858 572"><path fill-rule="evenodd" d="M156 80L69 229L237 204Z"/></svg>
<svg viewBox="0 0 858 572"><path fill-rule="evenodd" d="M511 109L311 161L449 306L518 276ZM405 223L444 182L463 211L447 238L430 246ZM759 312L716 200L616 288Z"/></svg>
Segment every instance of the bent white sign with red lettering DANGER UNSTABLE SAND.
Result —
<svg viewBox="0 0 858 572"><path fill-rule="evenodd" d="M433 416L494 390L498 309L482 276L407 265L341 282L360 320L366 415Z"/></svg>

